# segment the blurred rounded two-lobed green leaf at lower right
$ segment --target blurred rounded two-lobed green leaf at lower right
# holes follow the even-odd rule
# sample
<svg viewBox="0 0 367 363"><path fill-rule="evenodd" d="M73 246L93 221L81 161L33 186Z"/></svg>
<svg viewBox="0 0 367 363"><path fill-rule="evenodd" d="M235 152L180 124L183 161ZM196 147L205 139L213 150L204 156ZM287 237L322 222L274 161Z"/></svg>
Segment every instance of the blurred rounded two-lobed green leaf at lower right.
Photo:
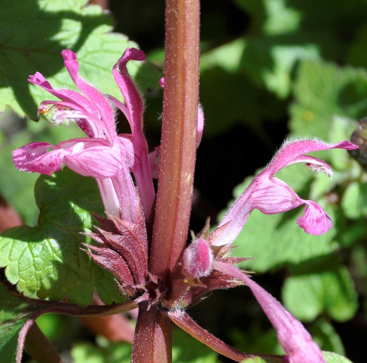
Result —
<svg viewBox="0 0 367 363"><path fill-rule="evenodd" d="M288 277L282 296L284 306L295 317L308 322L324 312L343 322L351 319L358 307L353 280L344 266Z"/></svg>

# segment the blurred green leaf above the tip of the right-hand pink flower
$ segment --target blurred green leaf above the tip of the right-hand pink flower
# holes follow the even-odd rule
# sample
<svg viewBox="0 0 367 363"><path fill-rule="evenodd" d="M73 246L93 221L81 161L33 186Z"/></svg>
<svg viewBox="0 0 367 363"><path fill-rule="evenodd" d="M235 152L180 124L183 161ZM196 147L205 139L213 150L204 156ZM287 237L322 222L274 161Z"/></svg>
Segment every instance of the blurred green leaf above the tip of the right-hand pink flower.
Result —
<svg viewBox="0 0 367 363"><path fill-rule="evenodd" d="M360 119L367 113L367 72L334 63L304 61L290 106L293 135L328 139L334 115Z"/></svg>

